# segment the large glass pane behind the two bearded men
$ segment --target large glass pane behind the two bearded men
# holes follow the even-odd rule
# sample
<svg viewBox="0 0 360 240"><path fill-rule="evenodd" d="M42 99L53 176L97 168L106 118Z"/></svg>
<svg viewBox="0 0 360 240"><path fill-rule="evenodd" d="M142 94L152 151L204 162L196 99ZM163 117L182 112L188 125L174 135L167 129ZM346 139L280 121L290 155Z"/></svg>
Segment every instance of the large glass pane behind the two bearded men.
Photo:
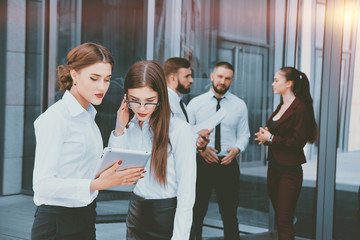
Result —
<svg viewBox="0 0 360 240"><path fill-rule="evenodd" d="M194 83L185 96L190 101L211 88L214 65L234 65L230 92L243 99L249 111L250 142L242 154L238 220L243 233L267 232L269 198L266 187L265 148L255 143L253 133L272 112L273 42L269 1L183 1L181 55L189 58ZM249 21L251 19L251 21ZM155 48L156 50L156 48ZM215 195L211 197L206 221L222 226ZM222 233L222 232L221 232Z"/></svg>

